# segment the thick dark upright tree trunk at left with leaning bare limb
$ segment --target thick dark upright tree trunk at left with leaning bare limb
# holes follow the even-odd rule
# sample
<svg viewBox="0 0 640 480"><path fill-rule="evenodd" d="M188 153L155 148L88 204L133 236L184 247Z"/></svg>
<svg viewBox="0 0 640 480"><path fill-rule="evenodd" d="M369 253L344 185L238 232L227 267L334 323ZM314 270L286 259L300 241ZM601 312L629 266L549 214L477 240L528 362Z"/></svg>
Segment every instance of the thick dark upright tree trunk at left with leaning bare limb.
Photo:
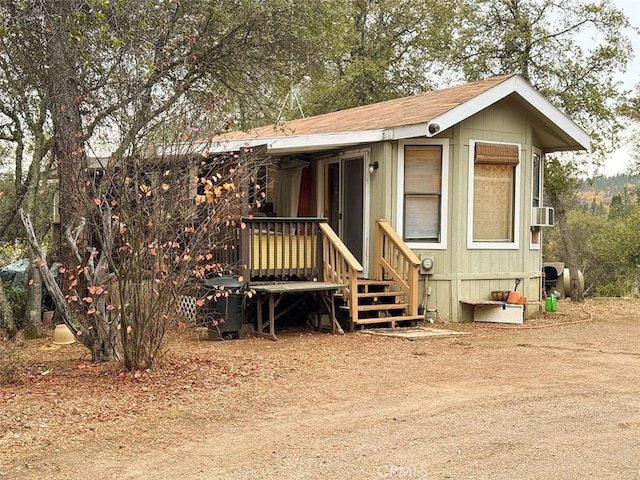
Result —
<svg viewBox="0 0 640 480"><path fill-rule="evenodd" d="M61 16L71 18L75 15L72 2L52 2L49 5ZM78 297L86 294L87 282L82 272L89 254L91 231L85 230L87 205L91 198L87 173L87 155L84 146L84 125L80 112L83 99L76 67L80 63L79 52L70 41L70 32L64 28L52 31L47 43L47 54L50 68L47 70L48 94L51 98L51 121L53 123L56 163L59 172L60 191L60 225L61 235L66 235L67 242L60 241L59 259L67 272L73 275L62 277L62 289L43 268L46 265L44 255L37 246L35 234L29 239L34 255L40 259L38 267L43 275L49 292L54 298L58 313L74 333L80 343L90 351L94 362L104 362L117 358L116 335L98 328L93 318L88 318L86 309L80 308L80 302L66 301L63 292L72 290L79 292ZM23 223L25 216L21 212ZM28 220L28 219L27 219ZM89 222L89 226L91 222ZM77 232L70 235L70 232ZM73 244L69 244L73 239ZM52 290L53 289L53 290ZM82 318L84 317L84 318ZM82 322L79 322L81 319ZM100 322L98 322L100 323ZM86 325L85 328L80 325Z"/></svg>

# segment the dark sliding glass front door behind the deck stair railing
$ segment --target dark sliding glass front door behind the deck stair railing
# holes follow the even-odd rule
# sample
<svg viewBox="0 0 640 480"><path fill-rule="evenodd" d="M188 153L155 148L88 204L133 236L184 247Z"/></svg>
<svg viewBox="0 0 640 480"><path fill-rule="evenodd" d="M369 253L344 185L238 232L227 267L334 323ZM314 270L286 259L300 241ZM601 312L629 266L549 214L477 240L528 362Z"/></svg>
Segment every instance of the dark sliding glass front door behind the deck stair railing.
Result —
<svg viewBox="0 0 640 480"><path fill-rule="evenodd" d="M364 266L364 157L332 159L324 164L323 215Z"/></svg>

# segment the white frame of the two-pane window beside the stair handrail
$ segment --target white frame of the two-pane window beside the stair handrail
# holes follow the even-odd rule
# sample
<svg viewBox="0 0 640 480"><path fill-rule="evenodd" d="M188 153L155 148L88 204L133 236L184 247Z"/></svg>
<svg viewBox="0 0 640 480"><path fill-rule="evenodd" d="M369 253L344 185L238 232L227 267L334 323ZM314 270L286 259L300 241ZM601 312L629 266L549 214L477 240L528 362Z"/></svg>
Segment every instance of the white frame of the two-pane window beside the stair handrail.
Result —
<svg viewBox="0 0 640 480"><path fill-rule="evenodd" d="M396 208L396 230L400 237L404 237L404 147L438 145L442 147L442 186L440 201L440 241L415 242L407 241L412 249L446 250L447 232L449 231L449 140L448 139L413 139L398 142L398 199Z"/></svg>

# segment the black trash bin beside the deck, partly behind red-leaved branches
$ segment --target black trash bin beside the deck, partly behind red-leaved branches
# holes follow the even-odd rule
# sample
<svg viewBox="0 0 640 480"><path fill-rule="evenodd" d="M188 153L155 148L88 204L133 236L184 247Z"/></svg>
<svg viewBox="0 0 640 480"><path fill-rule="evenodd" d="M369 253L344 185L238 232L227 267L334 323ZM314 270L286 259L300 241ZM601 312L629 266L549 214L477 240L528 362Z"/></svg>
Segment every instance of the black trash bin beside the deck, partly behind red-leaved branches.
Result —
<svg viewBox="0 0 640 480"><path fill-rule="evenodd" d="M210 277L205 279L204 286L203 314L209 340L238 338L243 319L242 283L230 276Z"/></svg>

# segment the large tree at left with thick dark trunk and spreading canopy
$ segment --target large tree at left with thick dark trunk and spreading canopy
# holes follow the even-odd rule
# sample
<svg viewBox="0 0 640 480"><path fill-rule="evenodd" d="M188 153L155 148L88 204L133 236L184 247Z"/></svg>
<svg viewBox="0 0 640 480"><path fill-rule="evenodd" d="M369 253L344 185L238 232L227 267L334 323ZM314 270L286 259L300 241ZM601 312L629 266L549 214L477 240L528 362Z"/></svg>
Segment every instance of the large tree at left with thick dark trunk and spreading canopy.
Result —
<svg viewBox="0 0 640 480"><path fill-rule="evenodd" d="M0 35L28 52L29 63L21 61L20 68L33 67L32 81L15 88L48 100L60 188L59 233L65 240L60 260L66 299L57 307L94 361L119 355L121 317L115 310L90 314L87 301L70 300L94 300L89 289L98 291L98 284L121 271L113 265L98 268L108 265L114 219L95 208L110 201L108 182L97 184L91 177L93 157L105 152L106 176L116 178L125 165L145 157L146 147L162 141L160 127L185 112L197 109L200 116L189 118L204 117L208 128L197 122L183 128L179 122L188 138L236 126L235 106L252 98L259 103L260 87L270 94L288 74L301 43L296 20L305 13L293 7L285 0L0 2L5 19ZM145 282L139 285L148 288ZM150 362L146 358L130 366Z"/></svg>

